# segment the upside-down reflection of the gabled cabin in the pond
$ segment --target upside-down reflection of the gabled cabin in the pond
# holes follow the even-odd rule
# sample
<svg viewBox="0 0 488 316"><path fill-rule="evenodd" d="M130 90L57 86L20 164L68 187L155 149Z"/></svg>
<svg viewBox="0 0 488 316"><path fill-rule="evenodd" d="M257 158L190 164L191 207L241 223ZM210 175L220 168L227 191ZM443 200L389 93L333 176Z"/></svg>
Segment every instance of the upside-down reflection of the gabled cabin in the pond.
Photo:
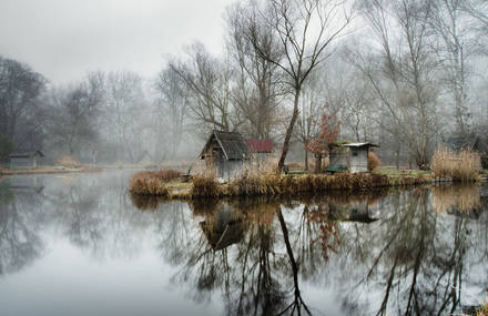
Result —
<svg viewBox="0 0 488 316"><path fill-rule="evenodd" d="M234 215L228 204L222 204L218 211L200 222L200 226L214 251L238 243L245 231L242 218Z"/></svg>

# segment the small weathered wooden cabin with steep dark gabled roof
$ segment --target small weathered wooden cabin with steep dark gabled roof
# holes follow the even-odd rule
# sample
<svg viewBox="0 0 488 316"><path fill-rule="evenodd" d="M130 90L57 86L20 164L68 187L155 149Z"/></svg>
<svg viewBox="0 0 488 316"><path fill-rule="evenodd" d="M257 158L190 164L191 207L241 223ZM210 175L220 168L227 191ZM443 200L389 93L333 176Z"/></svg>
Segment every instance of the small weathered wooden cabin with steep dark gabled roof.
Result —
<svg viewBox="0 0 488 316"><path fill-rule="evenodd" d="M207 169L214 167L217 176L231 179L243 171L250 151L240 133L213 131L200 159Z"/></svg>

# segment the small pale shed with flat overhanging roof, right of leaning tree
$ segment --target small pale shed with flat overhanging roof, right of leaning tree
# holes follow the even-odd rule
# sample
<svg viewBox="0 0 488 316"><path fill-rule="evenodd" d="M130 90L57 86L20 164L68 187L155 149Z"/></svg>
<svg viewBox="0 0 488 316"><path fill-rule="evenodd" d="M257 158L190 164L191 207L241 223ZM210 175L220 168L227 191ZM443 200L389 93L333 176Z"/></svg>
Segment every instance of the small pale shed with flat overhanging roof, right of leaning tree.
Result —
<svg viewBox="0 0 488 316"><path fill-rule="evenodd" d="M377 146L372 143L333 144L327 171L367 172L369 149Z"/></svg>

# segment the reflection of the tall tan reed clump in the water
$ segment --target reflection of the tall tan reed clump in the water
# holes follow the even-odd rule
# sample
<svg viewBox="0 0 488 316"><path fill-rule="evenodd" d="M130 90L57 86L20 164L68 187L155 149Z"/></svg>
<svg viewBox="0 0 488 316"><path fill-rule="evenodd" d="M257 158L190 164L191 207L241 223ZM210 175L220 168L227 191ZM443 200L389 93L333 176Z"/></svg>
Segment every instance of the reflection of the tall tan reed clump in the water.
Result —
<svg viewBox="0 0 488 316"><path fill-rule="evenodd" d="M435 186L433 204L437 213L469 212L481 205L478 186Z"/></svg>

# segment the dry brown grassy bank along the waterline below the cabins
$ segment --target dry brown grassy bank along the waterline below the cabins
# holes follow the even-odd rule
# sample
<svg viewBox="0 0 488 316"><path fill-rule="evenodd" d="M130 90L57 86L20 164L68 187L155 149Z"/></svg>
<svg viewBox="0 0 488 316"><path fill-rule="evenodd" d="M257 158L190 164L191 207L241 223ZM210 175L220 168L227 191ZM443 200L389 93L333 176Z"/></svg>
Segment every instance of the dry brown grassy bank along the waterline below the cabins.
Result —
<svg viewBox="0 0 488 316"><path fill-rule="evenodd" d="M169 176L171 174L172 176ZM133 194L167 198L224 196L276 196L325 191L368 191L378 187L408 186L433 182L429 174L401 173L336 173L277 175L272 172L250 172L246 176L220 183L211 173L196 174L191 181L180 180L176 171L140 172L133 175L129 190Z"/></svg>

